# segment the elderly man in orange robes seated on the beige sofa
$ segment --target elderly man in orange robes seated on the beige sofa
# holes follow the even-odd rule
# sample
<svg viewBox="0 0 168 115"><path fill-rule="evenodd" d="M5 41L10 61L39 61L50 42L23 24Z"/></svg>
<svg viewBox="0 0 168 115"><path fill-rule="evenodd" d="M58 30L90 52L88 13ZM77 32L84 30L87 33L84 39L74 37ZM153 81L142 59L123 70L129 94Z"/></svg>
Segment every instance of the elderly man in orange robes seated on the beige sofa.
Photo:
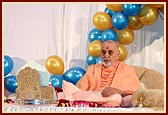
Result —
<svg viewBox="0 0 168 115"><path fill-rule="evenodd" d="M118 61L119 56L118 42L105 41L101 49L102 63L88 68L76 84L80 90L71 93L72 98L103 101L112 106L130 106L131 96L140 87L140 82L132 67ZM64 91L68 91L69 87L65 84Z"/></svg>

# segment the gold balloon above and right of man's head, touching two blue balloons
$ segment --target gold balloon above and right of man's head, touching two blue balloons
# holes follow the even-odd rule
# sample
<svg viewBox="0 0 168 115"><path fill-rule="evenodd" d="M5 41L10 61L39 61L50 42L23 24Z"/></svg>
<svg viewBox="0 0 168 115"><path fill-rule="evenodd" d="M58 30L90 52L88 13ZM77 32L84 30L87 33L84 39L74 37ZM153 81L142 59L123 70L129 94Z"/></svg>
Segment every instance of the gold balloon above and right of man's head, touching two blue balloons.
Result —
<svg viewBox="0 0 168 115"><path fill-rule="evenodd" d="M128 45L134 41L134 32L129 29L125 28L117 32L118 34L118 41L121 44Z"/></svg>

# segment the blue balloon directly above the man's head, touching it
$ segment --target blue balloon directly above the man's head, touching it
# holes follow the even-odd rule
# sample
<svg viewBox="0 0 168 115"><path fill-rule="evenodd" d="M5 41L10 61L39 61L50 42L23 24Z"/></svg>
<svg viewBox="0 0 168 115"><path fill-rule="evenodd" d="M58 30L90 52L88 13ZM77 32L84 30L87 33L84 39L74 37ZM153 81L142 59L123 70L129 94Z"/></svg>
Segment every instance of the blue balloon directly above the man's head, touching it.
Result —
<svg viewBox="0 0 168 115"><path fill-rule="evenodd" d="M105 30L102 33L102 41L105 42L107 40L118 41L117 33L111 29Z"/></svg>

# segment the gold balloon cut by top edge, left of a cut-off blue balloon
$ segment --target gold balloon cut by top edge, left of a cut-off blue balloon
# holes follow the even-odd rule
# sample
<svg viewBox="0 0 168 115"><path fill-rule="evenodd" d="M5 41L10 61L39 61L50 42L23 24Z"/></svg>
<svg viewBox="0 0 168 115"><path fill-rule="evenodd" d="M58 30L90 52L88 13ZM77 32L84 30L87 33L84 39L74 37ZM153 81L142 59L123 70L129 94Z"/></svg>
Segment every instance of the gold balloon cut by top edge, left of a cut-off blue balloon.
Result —
<svg viewBox="0 0 168 115"><path fill-rule="evenodd" d="M122 4L106 4L107 8L114 11L120 12L122 11Z"/></svg>

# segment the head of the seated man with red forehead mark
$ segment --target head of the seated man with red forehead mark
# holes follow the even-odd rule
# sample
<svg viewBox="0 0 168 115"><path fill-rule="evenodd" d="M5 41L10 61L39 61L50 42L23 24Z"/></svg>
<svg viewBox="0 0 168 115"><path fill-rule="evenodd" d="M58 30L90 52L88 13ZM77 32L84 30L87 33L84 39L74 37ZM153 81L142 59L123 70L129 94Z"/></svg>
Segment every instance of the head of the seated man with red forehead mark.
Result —
<svg viewBox="0 0 168 115"><path fill-rule="evenodd" d="M119 59L119 44L112 40L105 41L101 48L102 63L105 67L112 66Z"/></svg>

